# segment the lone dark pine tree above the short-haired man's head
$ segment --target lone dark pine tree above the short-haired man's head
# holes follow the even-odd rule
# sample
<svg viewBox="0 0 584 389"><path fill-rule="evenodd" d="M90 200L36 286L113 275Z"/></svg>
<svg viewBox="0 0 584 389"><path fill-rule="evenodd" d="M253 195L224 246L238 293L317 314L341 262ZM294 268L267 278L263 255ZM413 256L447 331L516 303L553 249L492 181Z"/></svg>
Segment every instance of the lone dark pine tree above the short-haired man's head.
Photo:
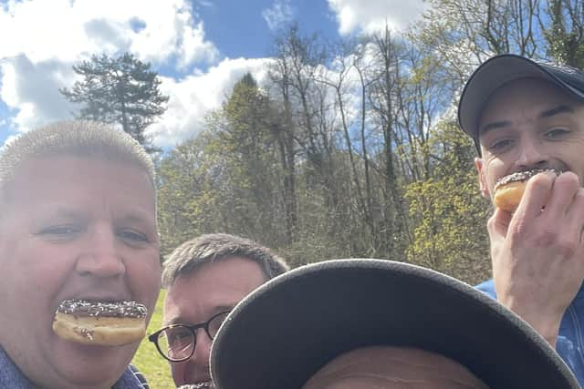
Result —
<svg viewBox="0 0 584 389"><path fill-rule="evenodd" d="M150 151L156 150L144 129L160 118L169 97L162 95L161 80L148 63L130 53L112 58L91 56L73 66L81 80L61 88L63 96L83 105L78 118L119 124Z"/></svg>

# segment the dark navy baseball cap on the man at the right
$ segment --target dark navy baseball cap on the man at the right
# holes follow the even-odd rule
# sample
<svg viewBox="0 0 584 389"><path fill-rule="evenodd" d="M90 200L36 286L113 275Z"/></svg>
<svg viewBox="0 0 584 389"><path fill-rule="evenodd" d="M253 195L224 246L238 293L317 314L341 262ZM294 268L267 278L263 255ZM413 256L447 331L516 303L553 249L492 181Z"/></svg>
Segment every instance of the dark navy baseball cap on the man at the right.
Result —
<svg viewBox="0 0 584 389"><path fill-rule="evenodd" d="M523 56L504 54L486 60L478 67L464 86L458 105L458 122L464 132L474 139L478 148L478 122L489 97L496 89L519 78L546 79L579 99L584 94L562 81L554 67L545 67Z"/></svg>

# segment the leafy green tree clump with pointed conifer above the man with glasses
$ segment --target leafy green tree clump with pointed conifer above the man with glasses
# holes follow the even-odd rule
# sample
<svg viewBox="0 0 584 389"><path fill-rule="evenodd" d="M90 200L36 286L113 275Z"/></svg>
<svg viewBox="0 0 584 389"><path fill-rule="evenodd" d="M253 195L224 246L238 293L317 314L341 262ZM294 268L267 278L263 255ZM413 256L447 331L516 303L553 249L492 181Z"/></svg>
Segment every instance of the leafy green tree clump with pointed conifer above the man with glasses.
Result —
<svg viewBox="0 0 584 389"><path fill-rule="evenodd" d="M276 115L247 74L207 129L162 159L159 209L163 251L196 234L225 231L286 239Z"/></svg>

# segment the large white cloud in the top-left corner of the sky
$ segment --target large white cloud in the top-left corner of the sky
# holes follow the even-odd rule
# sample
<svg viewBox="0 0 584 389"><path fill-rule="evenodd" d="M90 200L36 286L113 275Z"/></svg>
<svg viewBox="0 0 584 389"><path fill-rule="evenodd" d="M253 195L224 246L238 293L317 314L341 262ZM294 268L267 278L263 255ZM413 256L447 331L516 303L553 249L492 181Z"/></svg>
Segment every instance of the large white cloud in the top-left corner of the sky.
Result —
<svg viewBox="0 0 584 389"><path fill-rule="evenodd" d="M202 22L186 0L30 0L0 8L0 57L75 61L91 53L131 51L163 63L214 60ZM140 28L137 28L140 26Z"/></svg>

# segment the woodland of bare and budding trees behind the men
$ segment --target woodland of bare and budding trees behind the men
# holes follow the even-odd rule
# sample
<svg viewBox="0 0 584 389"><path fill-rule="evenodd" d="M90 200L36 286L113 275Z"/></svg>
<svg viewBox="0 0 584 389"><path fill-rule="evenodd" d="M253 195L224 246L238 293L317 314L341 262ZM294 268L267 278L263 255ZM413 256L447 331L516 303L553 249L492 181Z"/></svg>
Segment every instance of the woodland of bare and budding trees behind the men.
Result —
<svg viewBox="0 0 584 389"><path fill-rule="evenodd" d="M246 75L205 129L160 160L163 252L229 232L293 265L408 261L489 276L464 80L515 53L584 67L583 0L430 0L406 33L328 42L290 26L258 85Z"/></svg>

